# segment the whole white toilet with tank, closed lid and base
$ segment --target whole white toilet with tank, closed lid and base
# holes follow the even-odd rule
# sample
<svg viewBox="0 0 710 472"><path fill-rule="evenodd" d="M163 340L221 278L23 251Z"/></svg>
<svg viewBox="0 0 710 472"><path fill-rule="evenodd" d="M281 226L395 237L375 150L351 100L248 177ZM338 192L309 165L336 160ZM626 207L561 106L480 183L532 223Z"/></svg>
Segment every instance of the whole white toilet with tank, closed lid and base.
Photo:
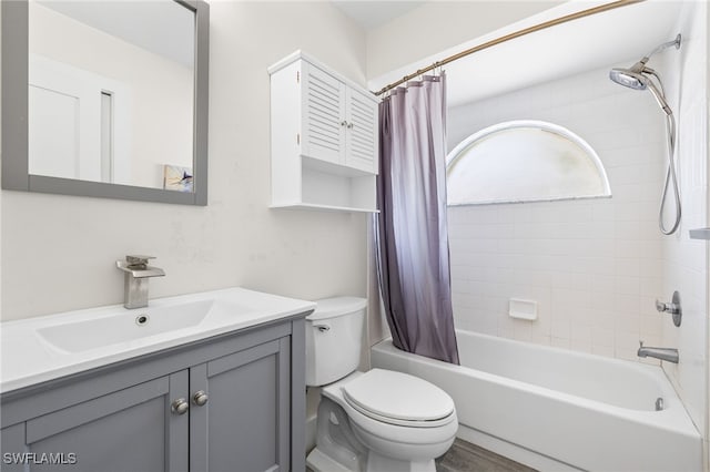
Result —
<svg viewBox="0 0 710 472"><path fill-rule="evenodd" d="M306 384L322 387L315 472L435 472L458 421L454 400L408 373L357 371L367 301L317 300L306 317Z"/></svg>

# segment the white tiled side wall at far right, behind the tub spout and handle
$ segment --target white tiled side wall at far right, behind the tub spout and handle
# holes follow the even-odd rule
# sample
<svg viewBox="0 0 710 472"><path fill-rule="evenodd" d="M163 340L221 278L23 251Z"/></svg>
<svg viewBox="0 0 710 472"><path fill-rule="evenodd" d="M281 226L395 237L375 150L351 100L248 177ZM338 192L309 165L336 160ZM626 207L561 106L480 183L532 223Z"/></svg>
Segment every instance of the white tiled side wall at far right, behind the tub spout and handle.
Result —
<svg viewBox="0 0 710 472"><path fill-rule="evenodd" d="M663 79L678 121L678 165L683 218L663 240L663 298L681 295L679 328L663 319L663 346L676 347L680 362L663 363L696 425L708 440L708 244L689 229L708 226L708 23L706 2L687 2L677 31L680 50L665 54Z"/></svg>

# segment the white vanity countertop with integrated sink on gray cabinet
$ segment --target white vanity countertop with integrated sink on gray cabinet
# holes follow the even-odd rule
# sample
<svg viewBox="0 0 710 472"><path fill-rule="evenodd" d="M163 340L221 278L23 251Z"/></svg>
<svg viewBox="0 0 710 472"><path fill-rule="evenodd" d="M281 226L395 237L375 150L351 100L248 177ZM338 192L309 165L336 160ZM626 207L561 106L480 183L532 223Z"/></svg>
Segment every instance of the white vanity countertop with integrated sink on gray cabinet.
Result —
<svg viewBox="0 0 710 472"><path fill-rule="evenodd" d="M195 309L191 307L202 310L199 319L187 322L191 326L164 330L171 320L180 322L181 311ZM129 310L113 305L0 322L0 392L250 328L315 307L313 301L237 287L158 298L150 300L146 308ZM172 314L175 318L171 319ZM135 319L142 315L149 316L149 322L139 327ZM98 331L94 339L91 330ZM48 341L43 332L53 332L57 342ZM122 340L121 337L132 332L138 334L135 338ZM108 340L100 343L97 339Z"/></svg>

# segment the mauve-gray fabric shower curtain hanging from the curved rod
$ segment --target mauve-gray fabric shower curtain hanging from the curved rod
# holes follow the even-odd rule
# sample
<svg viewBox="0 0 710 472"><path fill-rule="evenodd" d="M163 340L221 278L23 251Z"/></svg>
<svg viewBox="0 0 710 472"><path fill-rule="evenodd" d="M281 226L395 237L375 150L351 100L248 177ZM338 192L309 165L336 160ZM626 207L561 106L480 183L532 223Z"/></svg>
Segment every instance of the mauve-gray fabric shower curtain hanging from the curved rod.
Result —
<svg viewBox="0 0 710 472"><path fill-rule="evenodd" d="M444 74L379 104L377 269L394 345L458 363L446 227Z"/></svg>

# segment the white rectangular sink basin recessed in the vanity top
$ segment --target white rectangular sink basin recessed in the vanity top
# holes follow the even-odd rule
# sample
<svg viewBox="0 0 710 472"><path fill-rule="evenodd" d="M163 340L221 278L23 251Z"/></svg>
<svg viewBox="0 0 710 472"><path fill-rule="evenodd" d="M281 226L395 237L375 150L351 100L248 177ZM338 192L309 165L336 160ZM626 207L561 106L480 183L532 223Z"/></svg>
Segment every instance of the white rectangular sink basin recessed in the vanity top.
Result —
<svg viewBox="0 0 710 472"><path fill-rule="evenodd" d="M232 304L225 306L214 299L176 304L165 307L146 307L136 310L118 308L94 319L39 328L39 337L54 349L64 352L82 352L121 342L134 342L143 338L194 328L210 316L239 316L248 310Z"/></svg>

